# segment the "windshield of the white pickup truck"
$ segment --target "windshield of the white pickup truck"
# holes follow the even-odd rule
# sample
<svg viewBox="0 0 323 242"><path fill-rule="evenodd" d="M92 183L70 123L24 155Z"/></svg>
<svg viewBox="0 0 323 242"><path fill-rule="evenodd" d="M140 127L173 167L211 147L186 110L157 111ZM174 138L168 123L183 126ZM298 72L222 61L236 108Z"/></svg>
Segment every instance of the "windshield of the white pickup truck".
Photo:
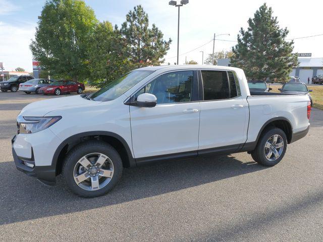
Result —
<svg viewBox="0 0 323 242"><path fill-rule="evenodd" d="M153 72L154 71L146 70L129 72L93 93L91 95L91 99L102 102L111 101L117 97L120 97L122 94Z"/></svg>

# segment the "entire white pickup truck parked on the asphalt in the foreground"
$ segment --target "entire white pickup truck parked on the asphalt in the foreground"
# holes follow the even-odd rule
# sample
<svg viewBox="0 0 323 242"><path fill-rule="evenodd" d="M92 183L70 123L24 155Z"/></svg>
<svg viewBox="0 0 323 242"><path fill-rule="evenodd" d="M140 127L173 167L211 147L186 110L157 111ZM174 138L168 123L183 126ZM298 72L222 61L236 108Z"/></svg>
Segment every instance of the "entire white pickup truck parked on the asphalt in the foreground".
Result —
<svg viewBox="0 0 323 242"><path fill-rule="evenodd" d="M100 196L123 167L247 151L279 163L309 129L307 95L251 93L241 69L158 66L127 73L93 94L27 105L17 117L16 167L47 185Z"/></svg>

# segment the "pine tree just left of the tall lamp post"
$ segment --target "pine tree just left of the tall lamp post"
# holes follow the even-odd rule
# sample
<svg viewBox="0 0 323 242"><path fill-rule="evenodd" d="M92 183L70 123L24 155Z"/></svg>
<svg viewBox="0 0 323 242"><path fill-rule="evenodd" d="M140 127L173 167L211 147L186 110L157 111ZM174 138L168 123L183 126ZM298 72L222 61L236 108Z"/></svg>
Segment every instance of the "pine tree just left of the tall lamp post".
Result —
<svg viewBox="0 0 323 242"><path fill-rule="evenodd" d="M134 10L126 15L126 22L122 24L120 33L128 46L127 54L133 67L164 63L163 57L172 40L164 40L163 33L155 24L149 28L148 15L141 5L134 7Z"/></svg>

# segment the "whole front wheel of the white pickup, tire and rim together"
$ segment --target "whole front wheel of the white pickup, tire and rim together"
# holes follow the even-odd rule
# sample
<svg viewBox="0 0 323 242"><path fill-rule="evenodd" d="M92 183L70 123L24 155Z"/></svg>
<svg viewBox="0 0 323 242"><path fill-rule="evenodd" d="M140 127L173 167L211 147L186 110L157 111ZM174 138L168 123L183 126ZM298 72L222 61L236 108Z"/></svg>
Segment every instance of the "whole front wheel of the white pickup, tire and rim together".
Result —
<svg viewBox="0 0 323 242"><path fill-rule="evenodd" d="M103 160L104 158L106 159L104 165L95 168L93 164L98 160L97 154L103 155ZM84 159L84 157L87 158ZM80 161L84 160L91 161L91 163L86 162L89 165L82 163L85 164L85 166L82 166ZM98 169L100 170L98 171ZM62 168L62 174L68 188L73 193L81 197L93 198L105 195L112 190L121 178L122 169L122 160L118 152L105 142L93 140L77 145L67 154ZM112 173L109 173L112 177L100 175L102 171L105 173L107 170L109 170L109 172L112 171ZM82 176L83 174L85 179L81 182L78 181L77 184L77 176ZM102 187L99 188L94 186L92 178L98 179L98 186Z"/></svg>

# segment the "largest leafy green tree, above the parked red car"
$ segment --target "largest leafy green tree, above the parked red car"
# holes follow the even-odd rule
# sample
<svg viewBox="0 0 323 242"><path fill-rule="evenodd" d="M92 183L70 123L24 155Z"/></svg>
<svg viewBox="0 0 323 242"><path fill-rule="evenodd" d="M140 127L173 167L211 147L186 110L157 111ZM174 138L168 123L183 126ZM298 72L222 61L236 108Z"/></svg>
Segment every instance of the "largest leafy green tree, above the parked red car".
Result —
<svg viewBox="0 0 323 242"><path fill-rule="evenodd" d="M33 56L51 73L85 80L89 74L89 40L96 23L93 10L84 1L46 1L30 44Z"/></svg>

